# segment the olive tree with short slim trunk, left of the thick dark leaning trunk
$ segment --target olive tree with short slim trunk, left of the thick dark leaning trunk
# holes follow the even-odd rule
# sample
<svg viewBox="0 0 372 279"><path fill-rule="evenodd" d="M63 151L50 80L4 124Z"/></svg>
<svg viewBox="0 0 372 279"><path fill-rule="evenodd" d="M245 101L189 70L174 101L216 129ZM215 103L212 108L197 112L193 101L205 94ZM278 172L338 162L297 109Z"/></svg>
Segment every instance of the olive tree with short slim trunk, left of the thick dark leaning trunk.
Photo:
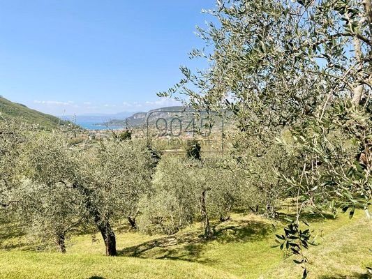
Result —
<svg viewBox="0 0 372 279"><path fill-rule="evenodd" d="M87 217L82 196L70 186L77 165L61 133L30 132L18 158L17 208L23 227L66 252L66 234Z"/></svg>

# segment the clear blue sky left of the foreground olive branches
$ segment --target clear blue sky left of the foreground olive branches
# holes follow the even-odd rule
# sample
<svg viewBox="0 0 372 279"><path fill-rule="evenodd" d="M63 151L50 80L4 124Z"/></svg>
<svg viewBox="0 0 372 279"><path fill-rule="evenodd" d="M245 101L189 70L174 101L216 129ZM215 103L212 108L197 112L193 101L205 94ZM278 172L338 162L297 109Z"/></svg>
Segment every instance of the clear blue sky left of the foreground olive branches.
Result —
<svg viewBox="0 0 372 279"><path fill-rule="evenodd" d="M173 105L214 0L0 0L0 95L54 115Z"/></svg>

